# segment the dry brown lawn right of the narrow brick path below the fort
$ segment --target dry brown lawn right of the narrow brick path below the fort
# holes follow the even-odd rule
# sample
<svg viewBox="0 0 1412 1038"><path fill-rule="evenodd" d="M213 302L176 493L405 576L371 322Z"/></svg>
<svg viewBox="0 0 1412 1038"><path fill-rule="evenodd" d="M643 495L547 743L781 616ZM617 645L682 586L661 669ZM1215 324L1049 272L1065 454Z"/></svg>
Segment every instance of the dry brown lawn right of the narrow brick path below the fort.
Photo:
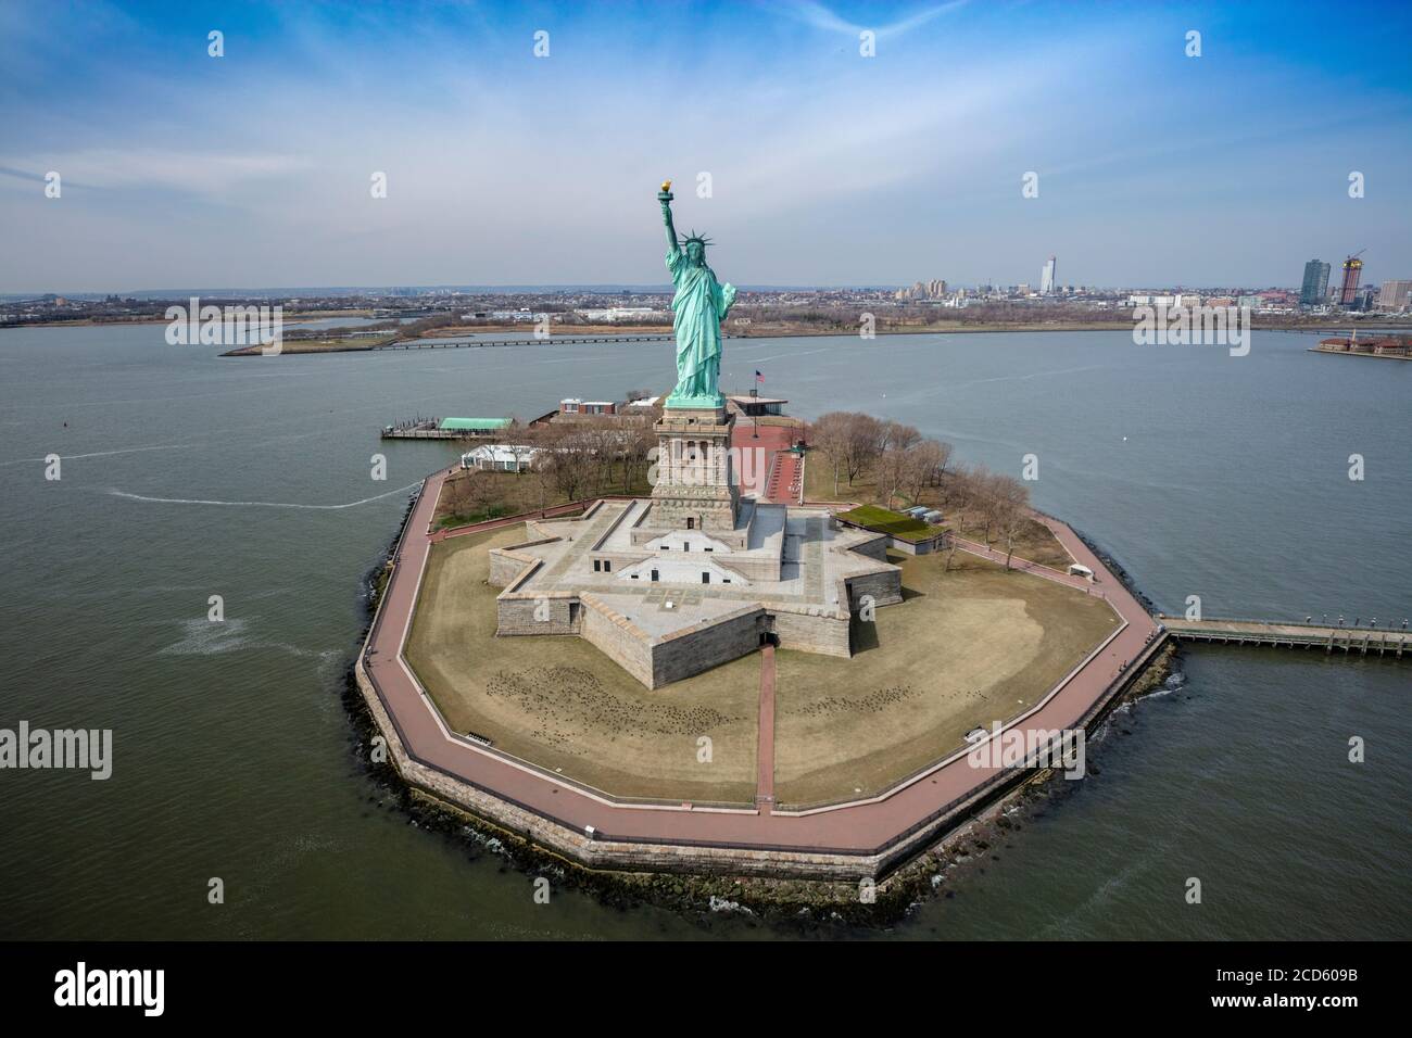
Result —
<svg viewBox="0 0 1412 1038"><path fill-rule="evenodd" d="M851 660L779 650L775 795L880 792L1034 706L1117 628L1106 602L973 555L894 555L907 600L854 620Z"/></svg>

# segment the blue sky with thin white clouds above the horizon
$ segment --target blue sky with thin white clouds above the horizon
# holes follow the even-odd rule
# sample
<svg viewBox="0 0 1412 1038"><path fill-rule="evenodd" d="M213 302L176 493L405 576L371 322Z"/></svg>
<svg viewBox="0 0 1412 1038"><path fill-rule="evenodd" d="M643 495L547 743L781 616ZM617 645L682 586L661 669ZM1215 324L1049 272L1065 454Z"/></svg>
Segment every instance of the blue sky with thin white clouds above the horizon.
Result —
<svg viewBox="0 0 1412 1038"><path fill-rule="evenodd" d="M1375 3L7 3L0 294L662 282L666 177L737 284L1036 282L1053 253L1060 282L1257 287L1361 247L1412 278L1409 30Z"/></svg>

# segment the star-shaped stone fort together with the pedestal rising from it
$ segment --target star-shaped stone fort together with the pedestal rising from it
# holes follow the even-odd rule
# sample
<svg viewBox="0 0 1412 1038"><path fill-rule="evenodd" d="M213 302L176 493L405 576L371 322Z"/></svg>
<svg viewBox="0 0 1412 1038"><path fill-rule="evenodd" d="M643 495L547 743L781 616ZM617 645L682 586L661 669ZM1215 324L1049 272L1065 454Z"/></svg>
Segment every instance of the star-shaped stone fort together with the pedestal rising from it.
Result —
<svg viewBox="0 0 1412 1038"><path fill-rule="evenodd" d="M668 405L651 499L532 520L530 539L491 549L497 634L578 634L648 688L764 644L851 655L854 612L902 599L887 537L743 500L734 421L724 405Z"/></svg>

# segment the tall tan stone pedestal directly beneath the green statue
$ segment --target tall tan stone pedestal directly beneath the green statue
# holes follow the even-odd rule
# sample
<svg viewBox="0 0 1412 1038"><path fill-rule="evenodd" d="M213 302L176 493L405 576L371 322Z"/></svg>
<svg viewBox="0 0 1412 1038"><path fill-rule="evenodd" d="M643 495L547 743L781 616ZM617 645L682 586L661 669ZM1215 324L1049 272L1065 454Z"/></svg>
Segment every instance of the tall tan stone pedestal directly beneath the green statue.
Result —
<svg viewBox="0 0 1412 1038"><path fill-rule="evenodd" d="M733 531L740 487L731 472L736 415L724 407L668 407L657 432L651 525L659 530Z"/></svg>

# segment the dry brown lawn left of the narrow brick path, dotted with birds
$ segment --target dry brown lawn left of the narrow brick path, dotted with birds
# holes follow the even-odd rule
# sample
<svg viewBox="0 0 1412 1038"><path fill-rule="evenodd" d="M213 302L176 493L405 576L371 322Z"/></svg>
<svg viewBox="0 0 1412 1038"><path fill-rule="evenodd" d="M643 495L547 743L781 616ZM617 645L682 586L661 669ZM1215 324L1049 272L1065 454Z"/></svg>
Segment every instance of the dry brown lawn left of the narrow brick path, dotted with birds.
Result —
<svg viewBox="0 0 1412 1038"><path fill-rule="evenodd" d="M446 723L617 797L753 804L758 654L652 692L582 638L497 638L486 552L522 539L517 524L432 545L407 660Z"/></svg>

